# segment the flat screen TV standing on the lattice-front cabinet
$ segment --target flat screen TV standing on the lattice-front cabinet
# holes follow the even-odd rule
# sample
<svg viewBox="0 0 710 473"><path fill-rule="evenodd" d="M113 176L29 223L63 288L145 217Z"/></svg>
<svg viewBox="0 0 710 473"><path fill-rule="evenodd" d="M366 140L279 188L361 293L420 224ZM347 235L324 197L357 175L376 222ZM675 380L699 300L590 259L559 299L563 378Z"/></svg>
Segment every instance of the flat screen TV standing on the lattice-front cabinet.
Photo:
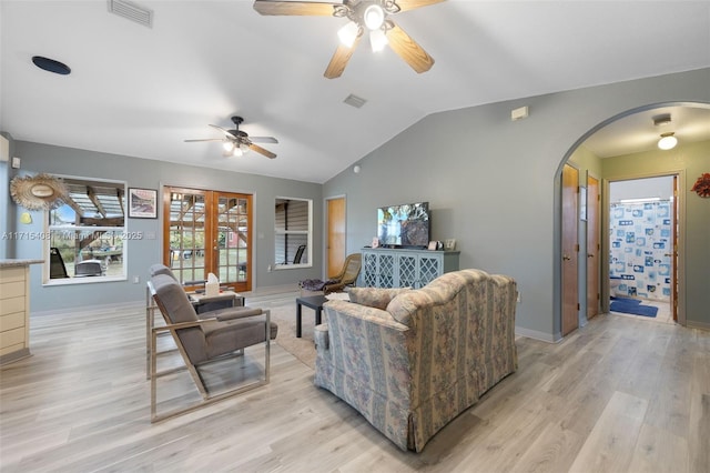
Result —
<svg viewBox="0 0 710 473"><path fill-rule="evenodd" d="M428 202L377 209L377 239L382 246L427 248L430 230Z"/></svg>

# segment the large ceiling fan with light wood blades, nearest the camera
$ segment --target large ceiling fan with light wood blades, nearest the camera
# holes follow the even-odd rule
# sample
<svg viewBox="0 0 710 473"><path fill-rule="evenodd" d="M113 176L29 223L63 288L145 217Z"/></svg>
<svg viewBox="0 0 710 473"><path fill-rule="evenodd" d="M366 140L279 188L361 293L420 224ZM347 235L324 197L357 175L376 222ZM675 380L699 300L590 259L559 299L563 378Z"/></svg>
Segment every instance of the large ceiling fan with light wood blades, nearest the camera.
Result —
<svg viewBox="0 0 710 473"><path fill-rule="evenodd" d="M389 47L418 73L434 66L434 59L417 44L389 16L440 3L445 0L343 0L339 3L316 1L255 0L254 10L261 14L293 14L347 18L338 31L341 44L335 50L324 76L335 79L343 74L365 31L369 32L373 51Z"/></svg>

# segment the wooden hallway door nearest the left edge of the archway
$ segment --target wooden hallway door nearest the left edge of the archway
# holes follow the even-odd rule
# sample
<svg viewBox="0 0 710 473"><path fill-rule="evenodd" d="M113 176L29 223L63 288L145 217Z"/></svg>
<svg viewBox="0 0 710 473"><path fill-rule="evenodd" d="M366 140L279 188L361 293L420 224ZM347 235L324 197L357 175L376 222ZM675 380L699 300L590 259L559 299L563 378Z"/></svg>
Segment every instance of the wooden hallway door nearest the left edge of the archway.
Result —
<svg viewBox="0 0 710 473"><path fill-rule="evenodd" d="M562 336L579 326L579 170L562 169Z"/></svg>

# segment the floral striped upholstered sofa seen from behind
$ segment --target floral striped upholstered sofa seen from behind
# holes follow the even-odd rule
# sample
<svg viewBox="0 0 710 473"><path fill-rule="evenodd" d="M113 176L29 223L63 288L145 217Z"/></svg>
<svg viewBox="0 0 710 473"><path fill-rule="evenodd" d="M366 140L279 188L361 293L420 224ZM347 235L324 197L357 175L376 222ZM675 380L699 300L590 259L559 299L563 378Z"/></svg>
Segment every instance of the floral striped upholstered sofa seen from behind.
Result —
<svg viewBox="0 0 710 473"><path fill-rule="evenodd" d="M420 452L517 369L511 278L462 270L418 290L349 293L324 304L314 382L403 450Z"/></svg>

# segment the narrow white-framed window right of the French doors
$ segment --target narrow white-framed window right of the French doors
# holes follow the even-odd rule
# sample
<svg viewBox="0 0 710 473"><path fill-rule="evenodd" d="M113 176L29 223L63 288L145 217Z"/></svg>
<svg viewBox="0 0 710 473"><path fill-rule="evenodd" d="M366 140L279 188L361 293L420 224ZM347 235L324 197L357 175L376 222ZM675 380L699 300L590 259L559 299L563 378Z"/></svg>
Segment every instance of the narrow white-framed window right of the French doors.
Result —
<svg viewBox="0 0 710 473"><path fill-rule="evenodd" d="M276 269L311 266L313 201L276 198L275 251Z"/></svg>

